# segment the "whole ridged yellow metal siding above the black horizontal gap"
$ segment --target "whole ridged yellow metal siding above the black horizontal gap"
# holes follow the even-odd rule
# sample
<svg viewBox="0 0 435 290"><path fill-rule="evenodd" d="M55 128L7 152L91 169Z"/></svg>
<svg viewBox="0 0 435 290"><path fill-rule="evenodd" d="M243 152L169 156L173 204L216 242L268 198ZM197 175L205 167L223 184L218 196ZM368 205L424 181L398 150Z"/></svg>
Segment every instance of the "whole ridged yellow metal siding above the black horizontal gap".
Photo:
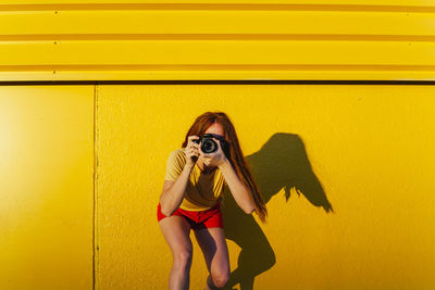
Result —
<svg viewBox="0 0 435 290"><path fill-rule="evenodd" d="M0 2L0 81L434 80L430 0Z"/></svg>

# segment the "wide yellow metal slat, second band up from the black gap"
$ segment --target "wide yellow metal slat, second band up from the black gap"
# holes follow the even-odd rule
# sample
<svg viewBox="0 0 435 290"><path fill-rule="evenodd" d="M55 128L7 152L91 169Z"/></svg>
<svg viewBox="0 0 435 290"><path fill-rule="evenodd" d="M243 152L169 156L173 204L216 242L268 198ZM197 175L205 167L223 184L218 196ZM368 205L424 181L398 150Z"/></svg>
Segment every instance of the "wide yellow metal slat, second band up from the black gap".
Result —
<svg viewBox="0 0 435 290"><path fill-rule="evenodd" d="M406 58L405 58L406 55ZM405 41L291 41L291 40L63 40L4 41L0 46L0 70L26 71L26 66L86 65L203 65L216 70L232 70L232 65L247 65L251 70L281 70L268 65L316 66L350 65L434 65L435 42ZM265 65L262 68L260 65ZM8 67L12 66L12 67ZM259 66L259 67L258 67ZM139 67L140 68L140 67ZM164 68L164 67L163 67ZM175 67L174 67L175 68ZM174 70L172 68L172 70ZM195 68L194 68L195 70ZM286 68L284 68L286 70ZM287 68L288 70L288 68ZM324 68L323 68L324 70Z"/></svg>

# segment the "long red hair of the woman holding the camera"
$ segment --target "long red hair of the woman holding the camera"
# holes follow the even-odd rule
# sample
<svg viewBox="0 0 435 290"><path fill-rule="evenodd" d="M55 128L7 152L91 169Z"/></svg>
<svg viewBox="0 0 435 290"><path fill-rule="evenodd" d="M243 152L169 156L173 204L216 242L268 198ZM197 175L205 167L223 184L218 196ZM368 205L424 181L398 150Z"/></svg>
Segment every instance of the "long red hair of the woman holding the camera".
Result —
<svg viewBox="0 0 435 290"><path fill-rule="evenodd" d="M262 223L265 223L268 210L265 207L264 200L260 193L258 186L253 181L250 169L245 161L244 153L241 152L240 144L238 142L236 129L234 128L233 123L225 113L206 112L202 115L198 116L187 131L186 138L182 147L186 148L189 136L204 135L206 130L214 123L219 123L223 127L225 141L228 144L225 150L223 150L225 156L232 164L241 182L248 187L250 198L256 207L256 213L259 216L260 220Z"/></svg>

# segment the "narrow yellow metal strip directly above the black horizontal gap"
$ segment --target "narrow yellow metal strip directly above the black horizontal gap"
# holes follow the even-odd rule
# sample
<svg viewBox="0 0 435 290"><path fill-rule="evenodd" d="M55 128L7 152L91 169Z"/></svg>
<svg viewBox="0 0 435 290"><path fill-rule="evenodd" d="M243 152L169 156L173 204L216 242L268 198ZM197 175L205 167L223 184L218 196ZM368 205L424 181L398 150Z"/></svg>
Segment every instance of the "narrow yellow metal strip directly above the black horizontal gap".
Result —
<svg viewBox="0 0 435 290"><path fill-rule="evenodd" d="M50 71L51 67L38 67L35 72L0 72L1 80L283 80L283 79L340 79L340 80L434 80L435 73L432 67L358 67L355 71L333 71L334 67L325 71L309 71L300 68L293 71L202 71L199 67L195 71L186 70L140 70L140 71L85 71L86 67L77 71L65 68L62 71ZM418 71L420 70L421 71ZM39 70L39 71L38 71ZM426 71L425 71L426 70Z"/></svg>

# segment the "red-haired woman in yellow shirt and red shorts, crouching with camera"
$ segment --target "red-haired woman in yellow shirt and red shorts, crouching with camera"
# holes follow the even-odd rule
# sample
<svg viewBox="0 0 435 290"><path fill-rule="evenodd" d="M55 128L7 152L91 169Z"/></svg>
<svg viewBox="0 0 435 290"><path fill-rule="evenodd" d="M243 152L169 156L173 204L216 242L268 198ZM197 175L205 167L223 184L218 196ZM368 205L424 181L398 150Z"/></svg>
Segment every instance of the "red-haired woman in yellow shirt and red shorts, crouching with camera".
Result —
<svg viewBox="0 0 435 290"><path fill-rule="evenodd" d="M201 143L197 143L206 134L212 134L217 143L213 153L202 152ZM158 205L159 226L173 254L170 290L189 288L190 229L210 273L204 289L220 289L228 281L229 256L221 214L225 187L245 213L254 211L265 222L264 201L245 162L232 122L223 112L207 112L194 122L182 148L171 152Z"/></svg>

